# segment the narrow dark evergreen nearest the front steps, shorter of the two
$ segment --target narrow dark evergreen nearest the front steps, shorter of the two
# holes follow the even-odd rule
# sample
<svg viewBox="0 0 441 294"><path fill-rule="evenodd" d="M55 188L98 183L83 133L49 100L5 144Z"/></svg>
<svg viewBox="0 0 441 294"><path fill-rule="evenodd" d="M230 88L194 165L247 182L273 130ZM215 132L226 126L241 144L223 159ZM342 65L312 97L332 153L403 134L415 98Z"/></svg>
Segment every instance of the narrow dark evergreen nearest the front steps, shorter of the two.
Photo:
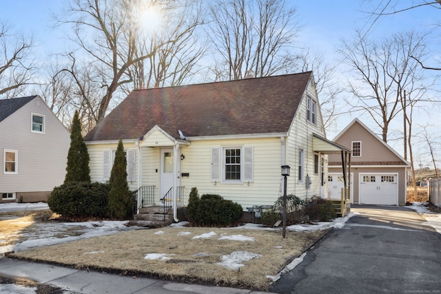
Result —
<svg viewBox="0 0 441 294"><path fill-rule="evenodd" d="M127 160L123 140L119 140L115 160L110 173L110 192L107 211L111 218L124 219L132 213L132 192L127 184Z"/></svg>

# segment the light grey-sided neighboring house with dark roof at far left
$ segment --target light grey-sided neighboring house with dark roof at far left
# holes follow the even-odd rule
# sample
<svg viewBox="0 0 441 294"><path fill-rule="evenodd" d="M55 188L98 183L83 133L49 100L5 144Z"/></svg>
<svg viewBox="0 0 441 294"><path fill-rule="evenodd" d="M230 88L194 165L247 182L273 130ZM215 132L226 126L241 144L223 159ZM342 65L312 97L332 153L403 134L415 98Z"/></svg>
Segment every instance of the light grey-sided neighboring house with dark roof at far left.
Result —
<svg viewBox="0 0 441 294"><path fill-rule="evenodd" d="M0 100L0 202L39 202L63 184L70 134L40 96Z"/></svg>

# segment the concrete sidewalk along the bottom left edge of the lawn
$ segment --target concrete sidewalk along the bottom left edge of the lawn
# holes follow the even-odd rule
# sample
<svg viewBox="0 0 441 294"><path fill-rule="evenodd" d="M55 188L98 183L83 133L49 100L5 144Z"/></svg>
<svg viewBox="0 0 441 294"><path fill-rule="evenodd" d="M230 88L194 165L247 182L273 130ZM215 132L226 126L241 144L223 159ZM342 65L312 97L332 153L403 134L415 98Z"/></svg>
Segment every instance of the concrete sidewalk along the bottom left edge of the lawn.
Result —
<svg viewBox="0 0 441 294"><path fill-rule="evenodd" d="M50 284L63 288L65 293L263 293L238 288L177 283L147 277L130 277L112 273L99 273L96 271L79 271L63 266L26 262L7 257L0 258L0 275L21 277L43 284Z"/></svg>

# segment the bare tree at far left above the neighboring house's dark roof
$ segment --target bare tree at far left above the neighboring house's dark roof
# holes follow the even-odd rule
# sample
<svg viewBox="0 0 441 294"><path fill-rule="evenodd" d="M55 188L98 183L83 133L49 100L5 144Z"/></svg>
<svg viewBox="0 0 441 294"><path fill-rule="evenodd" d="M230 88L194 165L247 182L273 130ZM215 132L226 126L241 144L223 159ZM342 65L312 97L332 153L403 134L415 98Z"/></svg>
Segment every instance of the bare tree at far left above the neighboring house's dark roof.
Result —
<svg viewBox="0 0 441 294"><path fill-rule="evenodd" d="M0 23L0 95L6 98L19 96L26 85L32 83L37 70L31 56L32 38L13 34L7 23Z"/></svg>

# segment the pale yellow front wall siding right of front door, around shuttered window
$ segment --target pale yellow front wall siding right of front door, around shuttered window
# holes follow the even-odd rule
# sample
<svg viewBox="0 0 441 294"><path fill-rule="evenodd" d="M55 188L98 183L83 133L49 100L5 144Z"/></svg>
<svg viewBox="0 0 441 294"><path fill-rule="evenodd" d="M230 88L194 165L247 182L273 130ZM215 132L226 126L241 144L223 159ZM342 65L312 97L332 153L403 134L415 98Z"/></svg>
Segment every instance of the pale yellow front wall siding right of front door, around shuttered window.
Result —
<svg viewBox="0 0 441 294"><path fill-rule="evenodd" d="M212 182L211 149L212 147L243 147L254 148L254 181L242 183ZM272 205L280 196L280 138L254 138L235 140L204 140L192 141L189 146L182 147L185 159L181 160L181 172L189 173L189 177L181 178L181 185L188 193L197 187L200 194L216 193L225 199L233 200L246 207L255 204ZM221 168L223 173L223 169Z"/></svg>

